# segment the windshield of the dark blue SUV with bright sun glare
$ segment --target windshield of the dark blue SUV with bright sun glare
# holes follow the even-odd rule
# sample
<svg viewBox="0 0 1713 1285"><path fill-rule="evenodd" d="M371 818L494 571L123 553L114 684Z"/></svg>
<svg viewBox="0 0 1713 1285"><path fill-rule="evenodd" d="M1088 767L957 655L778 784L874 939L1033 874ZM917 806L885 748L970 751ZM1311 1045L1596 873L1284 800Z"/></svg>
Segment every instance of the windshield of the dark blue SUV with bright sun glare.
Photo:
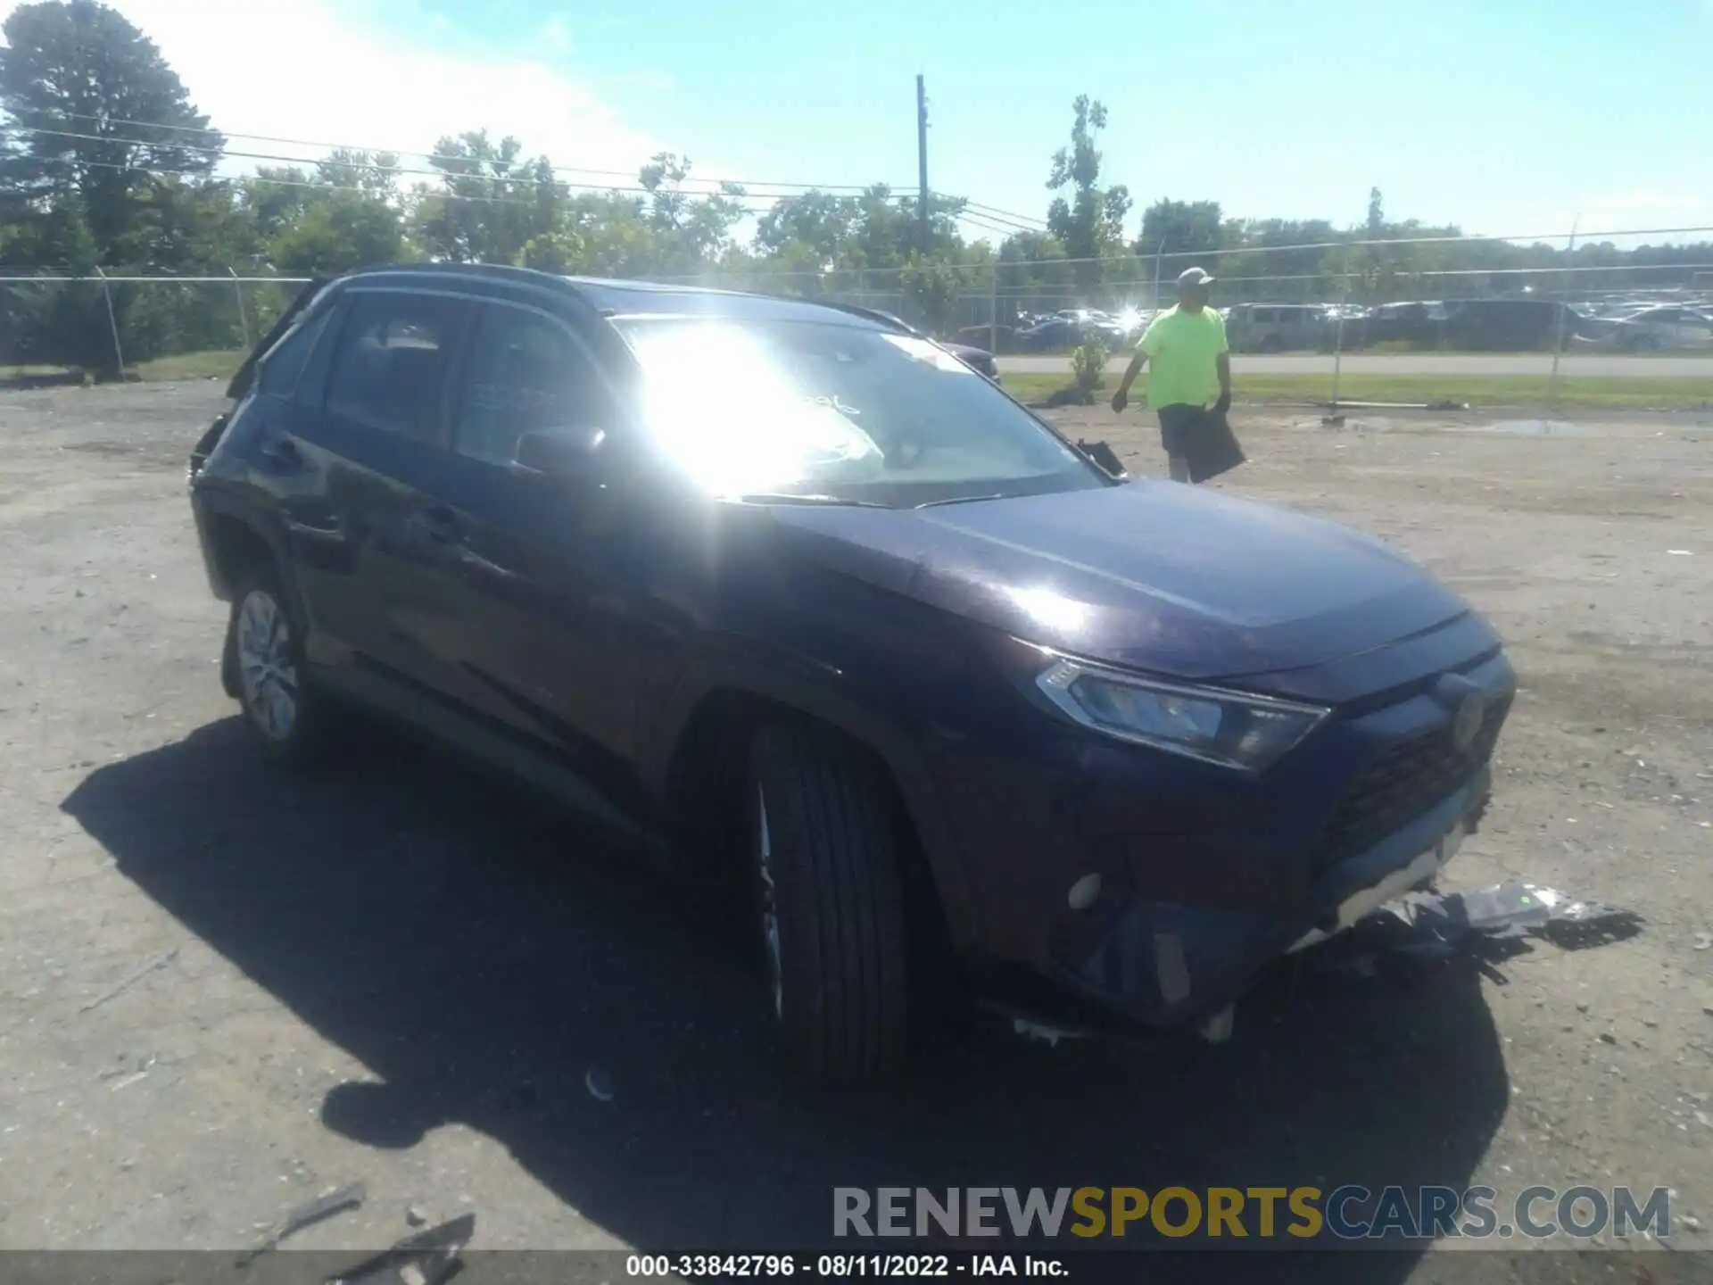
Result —
<svg viewBox="0 0 1713 1285"><path fill-rule="evenodd" d="M944 350L841 322L615 317L656 444L714 495L913 507L1107 485Z"/></svg>

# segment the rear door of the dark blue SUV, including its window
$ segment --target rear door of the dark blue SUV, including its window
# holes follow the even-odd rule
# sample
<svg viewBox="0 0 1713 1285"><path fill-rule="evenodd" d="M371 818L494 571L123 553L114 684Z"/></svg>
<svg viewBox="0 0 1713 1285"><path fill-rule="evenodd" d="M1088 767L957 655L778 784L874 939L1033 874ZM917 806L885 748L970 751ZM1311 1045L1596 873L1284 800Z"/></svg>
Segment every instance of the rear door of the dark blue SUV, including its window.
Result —
<svg viewBox="0 0 1713 1285"><path fill-rule="evenodd" d="M432 678L411 629L435 552L421 495L445 466L447 370L469 315L457 295L353 284L329 322L324 387L296 435L300 466L324 478L324 529L300 533L315 661Z"/></svg>

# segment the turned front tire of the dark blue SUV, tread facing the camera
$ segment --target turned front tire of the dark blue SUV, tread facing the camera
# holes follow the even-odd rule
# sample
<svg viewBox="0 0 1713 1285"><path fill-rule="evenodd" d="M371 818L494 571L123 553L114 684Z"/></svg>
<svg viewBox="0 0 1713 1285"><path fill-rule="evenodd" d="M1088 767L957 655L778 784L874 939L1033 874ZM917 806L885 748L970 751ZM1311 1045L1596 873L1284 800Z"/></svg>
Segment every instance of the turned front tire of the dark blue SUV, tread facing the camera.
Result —
<svg viewBox="0 0 1713 1285"><path fill-rule="evenodd" d="M904 1057L904 894L891 800L863 757L807 728L750 752L750 864L769 1002L810 1079L880 1076Z"/></svg>

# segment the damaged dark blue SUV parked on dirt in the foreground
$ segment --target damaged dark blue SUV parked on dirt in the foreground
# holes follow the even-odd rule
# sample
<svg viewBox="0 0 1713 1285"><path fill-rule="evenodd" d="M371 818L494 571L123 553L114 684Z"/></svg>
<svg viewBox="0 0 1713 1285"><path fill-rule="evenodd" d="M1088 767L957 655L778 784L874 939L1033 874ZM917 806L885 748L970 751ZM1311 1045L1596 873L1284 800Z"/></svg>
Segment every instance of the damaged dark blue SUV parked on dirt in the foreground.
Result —
<svg viewBox="0 0 1713 1285"><path fill-rule="evenodd" d="M373 269L228 396L190 511L255 747L377 711L740 894L815 1078L930 990L1220 1030L1487 809L1516 675L1456 593L1110 473L875 312Z"/></svg>

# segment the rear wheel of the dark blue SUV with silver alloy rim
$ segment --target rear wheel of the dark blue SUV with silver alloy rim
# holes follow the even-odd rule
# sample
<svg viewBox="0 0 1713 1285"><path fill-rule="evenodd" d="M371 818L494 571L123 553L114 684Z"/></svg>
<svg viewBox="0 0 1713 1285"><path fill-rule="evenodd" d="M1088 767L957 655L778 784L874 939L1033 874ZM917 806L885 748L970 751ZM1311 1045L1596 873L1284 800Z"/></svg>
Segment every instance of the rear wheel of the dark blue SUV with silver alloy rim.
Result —
<svg viewBox="0 0 1713 1285"><path fill-rule="evenodd" d="M221 668L262 752L276 762L307 766L327 747L331 714L327 699L305 678L301 631L286 601L272 564L257 564L238 577Z"/></svg>

